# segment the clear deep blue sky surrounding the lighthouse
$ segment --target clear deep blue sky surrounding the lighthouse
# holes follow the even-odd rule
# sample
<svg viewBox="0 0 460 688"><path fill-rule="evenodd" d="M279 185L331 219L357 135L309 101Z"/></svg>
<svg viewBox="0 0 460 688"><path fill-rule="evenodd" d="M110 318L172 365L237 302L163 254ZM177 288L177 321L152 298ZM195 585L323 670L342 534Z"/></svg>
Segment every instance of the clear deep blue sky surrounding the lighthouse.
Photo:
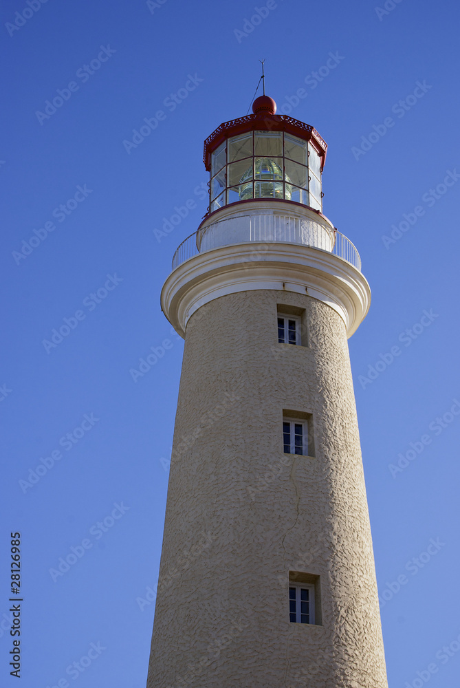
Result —
<svg viewBox="0 0 460 688"><path fill-rule="evenodd" d="M157 579L183 352L160 289L206 212L203 141L246 114L265 58L278 111L329 144L324 212L373 292L349 344L389 685L417 688L434 664L430 686L457 688L459 9L384 7L3 2L1 685L15 685L10 531L21 532L21 685L145 685L154 604L138 598ZM124 144L144 118L151 133Z"/></svg>

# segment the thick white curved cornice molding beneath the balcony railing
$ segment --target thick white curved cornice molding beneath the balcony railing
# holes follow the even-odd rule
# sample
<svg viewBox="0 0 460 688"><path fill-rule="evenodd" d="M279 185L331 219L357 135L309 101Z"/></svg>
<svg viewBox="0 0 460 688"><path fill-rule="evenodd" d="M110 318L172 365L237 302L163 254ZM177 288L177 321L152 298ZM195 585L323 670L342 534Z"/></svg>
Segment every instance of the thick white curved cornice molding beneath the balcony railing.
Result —
<svg viewBox="0 0 460 688"><path fill-rule="evenodd" d="M162 310L182 337L202 305L234 292L307 293L342 317L350 337L366 317L371 288L350 263L320 248L254 241L221 246L179 265L162 288Z"/></svg>

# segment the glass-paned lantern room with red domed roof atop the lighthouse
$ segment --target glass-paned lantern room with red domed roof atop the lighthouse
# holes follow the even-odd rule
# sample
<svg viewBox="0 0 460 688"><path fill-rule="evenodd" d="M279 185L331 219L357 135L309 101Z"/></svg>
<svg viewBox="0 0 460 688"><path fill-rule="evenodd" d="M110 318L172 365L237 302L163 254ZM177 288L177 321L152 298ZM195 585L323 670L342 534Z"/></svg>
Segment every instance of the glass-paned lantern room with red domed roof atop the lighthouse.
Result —
<svg viewBox="0 0 460 688"><path fill-rule="evenodd" d="M276 115L276 103L268 96L256 98L252 109L252 115L221 124L204 143L209 213L269 198L322 212L325 141L314 127Z"/></svg>

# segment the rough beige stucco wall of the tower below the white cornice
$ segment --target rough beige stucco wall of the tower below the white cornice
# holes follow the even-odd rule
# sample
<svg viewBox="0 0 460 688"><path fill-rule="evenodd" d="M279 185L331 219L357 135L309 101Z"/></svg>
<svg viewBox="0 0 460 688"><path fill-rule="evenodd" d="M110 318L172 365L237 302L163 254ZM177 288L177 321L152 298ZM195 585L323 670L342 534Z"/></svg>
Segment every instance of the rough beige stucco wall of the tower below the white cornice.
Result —
<svg viewBox="0 0 460 688"><path fill-rule="evenodd" d="M277 303L308 347L278 344ZM283 409L313 414L315 458L283 453ZM320 576L322 625L289 623L289 570ZM345 327L307 295L188 323L147 685L387 686Z"/></svg>

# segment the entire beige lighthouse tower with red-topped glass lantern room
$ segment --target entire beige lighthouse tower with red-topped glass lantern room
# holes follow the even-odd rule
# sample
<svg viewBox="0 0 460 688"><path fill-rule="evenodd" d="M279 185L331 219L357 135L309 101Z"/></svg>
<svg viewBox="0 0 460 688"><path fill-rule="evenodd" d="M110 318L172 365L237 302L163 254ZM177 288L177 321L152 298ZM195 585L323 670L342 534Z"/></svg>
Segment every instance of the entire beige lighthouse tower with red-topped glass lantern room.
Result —
<svg viewBox="0 0 460 688"><path fill-rule="evenodd" d="M206 139L162 290L185 349L147 686L386 688L347 346L369 285L322 214L327 144L253 111Z"/></svg>

